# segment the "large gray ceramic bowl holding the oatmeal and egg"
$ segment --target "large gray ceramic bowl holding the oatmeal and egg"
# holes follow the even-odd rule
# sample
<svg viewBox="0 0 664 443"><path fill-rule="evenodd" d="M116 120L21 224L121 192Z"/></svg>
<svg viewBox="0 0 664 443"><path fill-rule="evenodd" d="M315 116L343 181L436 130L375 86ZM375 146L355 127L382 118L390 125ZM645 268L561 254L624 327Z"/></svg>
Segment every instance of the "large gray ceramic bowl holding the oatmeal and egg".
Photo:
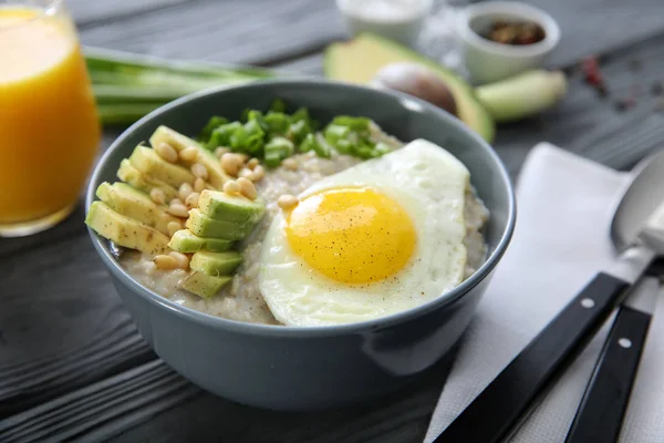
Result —
<svg viewBox="0 0 664 443"><path fill-rule="evenodd" d="M322 122L338 114L366 115L404 142L423 137L445 146L471 173L491 213L490 255L470 278L418 308L361 323L289 328L208 316L137 284L90 231L117 293L155 352L199 387L240 403L276 410L332 408L395 390L440 360L457 341L505 253L515 226L512 187L500 159L449 114L403 94L324 81L269 81L188 95L147 115L113 143L86 196L115 181L122 158L160 124L195 134L210 115L239 117L280 97L307 106Z"/></svg>

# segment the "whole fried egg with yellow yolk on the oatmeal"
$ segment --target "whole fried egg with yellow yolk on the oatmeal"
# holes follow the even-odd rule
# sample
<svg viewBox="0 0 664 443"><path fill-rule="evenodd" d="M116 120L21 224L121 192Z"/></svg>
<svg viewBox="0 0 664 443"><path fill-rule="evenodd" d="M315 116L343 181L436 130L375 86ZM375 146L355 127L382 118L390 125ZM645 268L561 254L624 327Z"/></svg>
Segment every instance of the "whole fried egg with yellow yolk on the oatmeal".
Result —
<svg viewBox="0 0 664 443"><path fill-rule="evenodd" d="M304 190L262 245L259 285L277 320L371 320L459 285L469 176L454 155L417 140Z"/></svg>

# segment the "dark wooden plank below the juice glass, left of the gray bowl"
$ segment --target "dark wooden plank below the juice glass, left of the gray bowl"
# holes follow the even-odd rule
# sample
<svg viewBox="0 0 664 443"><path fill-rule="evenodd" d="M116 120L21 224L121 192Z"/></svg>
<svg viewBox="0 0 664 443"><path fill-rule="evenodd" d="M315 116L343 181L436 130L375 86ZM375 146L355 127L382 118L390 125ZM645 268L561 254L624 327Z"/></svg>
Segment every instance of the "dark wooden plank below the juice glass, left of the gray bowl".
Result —
<svg viewBox="0 0 664 443"><path fill-rule="evenodd" d="M92 248L82 207L51 235L18 250L0 239L0 419L155 358Z"/></svg>

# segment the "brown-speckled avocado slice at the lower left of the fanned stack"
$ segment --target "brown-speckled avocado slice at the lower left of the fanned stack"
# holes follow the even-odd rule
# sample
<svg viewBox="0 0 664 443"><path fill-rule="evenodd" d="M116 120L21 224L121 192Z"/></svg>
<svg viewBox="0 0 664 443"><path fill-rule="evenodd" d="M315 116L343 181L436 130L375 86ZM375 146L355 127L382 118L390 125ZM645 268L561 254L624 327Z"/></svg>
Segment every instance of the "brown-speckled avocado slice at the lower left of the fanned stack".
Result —
<svg viewBox="0 0 664 443"><path fill-rule="evenodd" d="M168 250L168 237L133 218L117 214L103 202L93 202L85 224L116 245L158 255Z"/></svg>

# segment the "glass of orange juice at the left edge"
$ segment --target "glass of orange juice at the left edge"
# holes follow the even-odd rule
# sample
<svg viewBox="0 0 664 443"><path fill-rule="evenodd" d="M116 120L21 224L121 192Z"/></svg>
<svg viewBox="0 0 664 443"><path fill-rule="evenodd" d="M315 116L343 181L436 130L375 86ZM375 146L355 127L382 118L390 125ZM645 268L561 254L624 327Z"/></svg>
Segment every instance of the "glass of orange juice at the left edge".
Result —
<svg viewBox="0 0 664 443"><path fill-rule="evenodd" d="M100 143L85 61L61 0L0 0L0 237L65 218Z"/></svg>

